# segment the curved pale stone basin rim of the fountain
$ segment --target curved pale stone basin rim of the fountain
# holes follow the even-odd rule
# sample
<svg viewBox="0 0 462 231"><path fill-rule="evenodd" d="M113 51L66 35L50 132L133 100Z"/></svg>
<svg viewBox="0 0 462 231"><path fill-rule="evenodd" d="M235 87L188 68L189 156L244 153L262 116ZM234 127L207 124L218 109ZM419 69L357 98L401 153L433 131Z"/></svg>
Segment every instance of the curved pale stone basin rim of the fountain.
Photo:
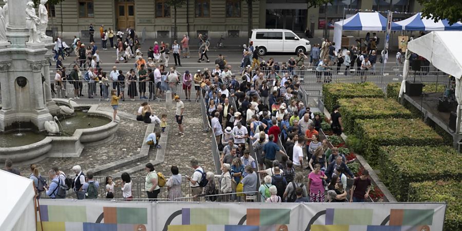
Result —
<svg viewBox="0 0 462 231"><path fill-rule="evenodd" d="M60 104L68 105L61 99L53 99ZM98 105L79 105L89 107L87 114L107 118L108 123L92 128L75 129L72 136L47 136L45 139L18 147L0 147L0 162L9 158L14 163L34 163L47 157L80 157L84 146L107 142L114 137L119 123L111 122L112 113L99 111ZM119 117L116 117L119 121ZM91 123L91 122L90 122Z"/></svg>

